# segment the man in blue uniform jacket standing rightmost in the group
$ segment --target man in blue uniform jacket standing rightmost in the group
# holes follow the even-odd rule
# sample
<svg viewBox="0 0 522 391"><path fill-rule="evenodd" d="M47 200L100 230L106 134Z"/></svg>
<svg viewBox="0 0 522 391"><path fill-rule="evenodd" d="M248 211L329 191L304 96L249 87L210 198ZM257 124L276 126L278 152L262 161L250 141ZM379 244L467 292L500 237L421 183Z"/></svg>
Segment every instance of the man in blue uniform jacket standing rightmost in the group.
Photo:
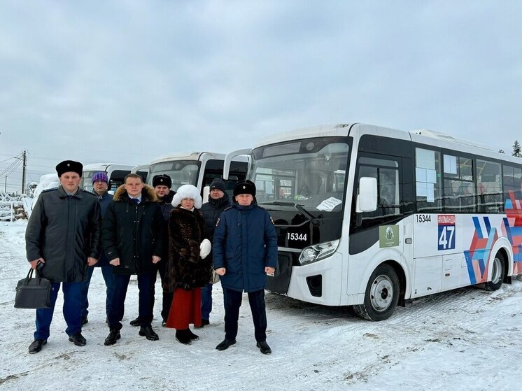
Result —
<svg viewBox="0 0 522 391"><path fill-rule="evenodd" d="M245 291L257 346L261 353L270 354L264 287L267 274L273 274L277 266L277 235L269 213L258 206L255 184L250 180L234 186L234 204L218 219L213 264L221 276L225 304L225 339L216 349L225 350L236 343L239 307Z"/></svg>

